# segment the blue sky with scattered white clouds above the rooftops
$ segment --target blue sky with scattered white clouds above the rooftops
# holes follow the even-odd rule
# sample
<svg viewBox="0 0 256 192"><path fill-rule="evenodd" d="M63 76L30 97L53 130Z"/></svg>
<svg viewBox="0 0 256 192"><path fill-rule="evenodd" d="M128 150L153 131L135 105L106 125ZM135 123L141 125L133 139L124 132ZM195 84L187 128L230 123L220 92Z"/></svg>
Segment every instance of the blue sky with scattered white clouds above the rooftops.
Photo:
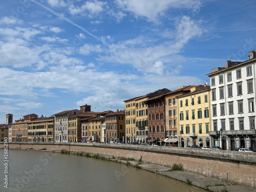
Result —
<svg viewBox="0 0 256 192"><path fill-rule="evenodd" d="M0 124L209 83L256 49L254 0L0 3Z"/></svg>

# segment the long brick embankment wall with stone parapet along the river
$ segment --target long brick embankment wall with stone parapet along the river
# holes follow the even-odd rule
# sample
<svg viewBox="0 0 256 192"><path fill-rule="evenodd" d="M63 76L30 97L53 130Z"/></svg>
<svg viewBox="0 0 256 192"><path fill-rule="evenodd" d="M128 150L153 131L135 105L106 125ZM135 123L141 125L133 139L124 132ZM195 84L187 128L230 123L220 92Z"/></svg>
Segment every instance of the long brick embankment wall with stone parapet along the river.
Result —
<svg viewBox="0 0 256 192"><path fill-rule="evenodd" d="M0 147L4 144L0 143ZM102 156L134 158L172 167L180 163L186 172L256 188L256 153L200 150L180 147L121 145L101 143L9 143L9 148L84 152Z"/></svg>

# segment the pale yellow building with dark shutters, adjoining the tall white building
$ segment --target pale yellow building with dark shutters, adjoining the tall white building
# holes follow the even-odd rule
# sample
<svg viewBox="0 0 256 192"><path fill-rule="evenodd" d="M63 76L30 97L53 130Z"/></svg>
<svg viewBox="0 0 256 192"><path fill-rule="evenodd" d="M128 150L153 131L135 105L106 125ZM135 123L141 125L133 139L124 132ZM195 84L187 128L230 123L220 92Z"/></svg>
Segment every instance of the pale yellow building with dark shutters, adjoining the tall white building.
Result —
<svg viewBox="0 0 256 192"><path fill-rule="evenodd" d="M196 86L178 99L178 134L180 146L210 146L210 87Z"/></svg>

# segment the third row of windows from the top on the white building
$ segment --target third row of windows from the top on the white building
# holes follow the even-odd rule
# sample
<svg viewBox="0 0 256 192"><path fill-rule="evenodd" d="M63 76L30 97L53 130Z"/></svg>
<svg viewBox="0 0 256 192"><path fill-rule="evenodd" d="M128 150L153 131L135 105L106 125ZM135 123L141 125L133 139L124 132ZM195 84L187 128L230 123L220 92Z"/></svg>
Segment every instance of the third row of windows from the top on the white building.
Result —
<svg viewBox="0 0 256 192"><path fill-rule="evenodd" d="M244 107L243 107L243 100L238 100L237 101L237 106L238 106L238 113L244 113ZM248 112L254 112L254 100L248 99ZM220 115L223 116L226 114L225 111L225 103L220 104ZM234 106L233 106L233 101L228 102L228 114L233 115L234 114ZM212 116L217 116L217 104L212 105Z"/></svg>

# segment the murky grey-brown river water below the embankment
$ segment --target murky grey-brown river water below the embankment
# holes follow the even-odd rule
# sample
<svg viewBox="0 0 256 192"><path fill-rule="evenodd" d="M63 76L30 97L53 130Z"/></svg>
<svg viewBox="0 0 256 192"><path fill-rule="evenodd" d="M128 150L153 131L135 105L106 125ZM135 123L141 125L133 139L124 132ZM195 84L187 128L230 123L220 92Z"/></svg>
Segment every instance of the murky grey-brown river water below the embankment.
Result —
<svg viewBox="0 0 256 192"><path fill-rule="evenodd" d="M4 150L0 150L0 154L0 191L206 191L111 161L44 151L9 150L8 166L5 166ZM8 189L3 182L5 167Z"/></svg>

